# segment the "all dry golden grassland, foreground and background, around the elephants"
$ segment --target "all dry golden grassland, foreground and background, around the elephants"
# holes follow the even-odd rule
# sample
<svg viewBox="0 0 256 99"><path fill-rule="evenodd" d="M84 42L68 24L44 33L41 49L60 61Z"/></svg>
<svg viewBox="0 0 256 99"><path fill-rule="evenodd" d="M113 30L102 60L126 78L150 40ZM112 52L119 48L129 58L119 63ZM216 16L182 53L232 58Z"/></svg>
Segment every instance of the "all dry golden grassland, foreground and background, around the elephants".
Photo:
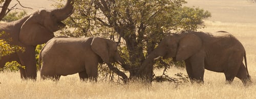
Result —
<svg viewBox="0 0 256 99"><path fill-rule="evenodd" d="M31 2L34 5L32 3L34 1ZM35 82L22 81L19 73L0 73L0 98L256 98L256 4L249 0L188 0L186 6L204 8L212 13L212 17L205 20L207 27L199 31L226 30L242 42L252 85L244 87L237 78L231 85L225 84L223 73L210 71L205 71L203 85L154 82L151 86L139 82L127 85L80 82L77 74L61 77L59 82L41 81L39 76ZM179 72L186 74L185 70L176 68L168 71L172 76Z"/></svg>

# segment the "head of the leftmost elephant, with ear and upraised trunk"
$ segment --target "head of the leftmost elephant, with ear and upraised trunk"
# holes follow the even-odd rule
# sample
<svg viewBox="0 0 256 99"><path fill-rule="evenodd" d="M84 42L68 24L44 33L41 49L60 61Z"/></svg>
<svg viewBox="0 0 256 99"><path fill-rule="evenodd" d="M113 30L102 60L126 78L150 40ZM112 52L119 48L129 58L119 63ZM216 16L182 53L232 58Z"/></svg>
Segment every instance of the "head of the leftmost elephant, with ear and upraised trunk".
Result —
<svg viewBox="0 0 256 99"><path fill-rule="evenodd" d="M73 12L72 0L62 8L38 10L27 16L19 31L19 41L25 45L38 45L46 43L54 37L53 32L65 24L61 21L68 18Z"/></svg>

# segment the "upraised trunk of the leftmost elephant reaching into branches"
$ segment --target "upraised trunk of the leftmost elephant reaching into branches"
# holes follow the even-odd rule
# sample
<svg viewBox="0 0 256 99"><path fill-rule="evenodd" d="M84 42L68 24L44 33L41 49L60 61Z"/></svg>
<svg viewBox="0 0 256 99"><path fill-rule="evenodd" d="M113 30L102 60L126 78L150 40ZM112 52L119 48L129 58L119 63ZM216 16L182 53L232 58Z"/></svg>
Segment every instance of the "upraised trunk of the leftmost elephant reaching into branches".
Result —
<svg viewBox="0 0 256 99"><path fill-rule="evenodd" d="M68 0L64 7L54 9L52 12L55 13L59 21L63 21L73 13L73 9L74 9L73 5L74 5L74 1Z"/></svg>

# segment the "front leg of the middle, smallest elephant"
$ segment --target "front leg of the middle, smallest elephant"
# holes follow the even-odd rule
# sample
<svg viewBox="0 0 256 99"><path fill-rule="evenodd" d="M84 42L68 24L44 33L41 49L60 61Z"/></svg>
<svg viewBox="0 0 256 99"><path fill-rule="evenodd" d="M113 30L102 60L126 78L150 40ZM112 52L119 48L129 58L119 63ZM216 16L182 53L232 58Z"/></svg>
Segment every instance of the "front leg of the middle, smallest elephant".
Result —
<svg viewBox="0 0 256 99"><path fill-rule="evenodd" d="M86 64L86 73L90 81L97 81L98 61L88 61Z"/></svg>

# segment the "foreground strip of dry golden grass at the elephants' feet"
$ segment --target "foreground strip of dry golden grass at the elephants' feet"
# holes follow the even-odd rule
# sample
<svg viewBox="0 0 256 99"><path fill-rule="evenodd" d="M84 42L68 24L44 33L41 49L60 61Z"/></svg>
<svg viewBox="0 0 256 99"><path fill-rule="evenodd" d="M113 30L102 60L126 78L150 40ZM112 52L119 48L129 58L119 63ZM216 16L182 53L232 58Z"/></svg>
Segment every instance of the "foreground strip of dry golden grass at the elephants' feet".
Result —
<svg viewBox="0 0 256 99"><path fill-rule="evenodd" d="M172 73L185 72L172 69ZM255 73L251 73L255 74ZM244 87L236 79L225 84L224 75L206 71L204 85L184 83L140 82L121 85L112 82L80 82L78 75L62 77L60 81L22 81L19 73L1 74L1 98L256 98L256 85ZM253 82L255 80L253 79Z"/></svg>

